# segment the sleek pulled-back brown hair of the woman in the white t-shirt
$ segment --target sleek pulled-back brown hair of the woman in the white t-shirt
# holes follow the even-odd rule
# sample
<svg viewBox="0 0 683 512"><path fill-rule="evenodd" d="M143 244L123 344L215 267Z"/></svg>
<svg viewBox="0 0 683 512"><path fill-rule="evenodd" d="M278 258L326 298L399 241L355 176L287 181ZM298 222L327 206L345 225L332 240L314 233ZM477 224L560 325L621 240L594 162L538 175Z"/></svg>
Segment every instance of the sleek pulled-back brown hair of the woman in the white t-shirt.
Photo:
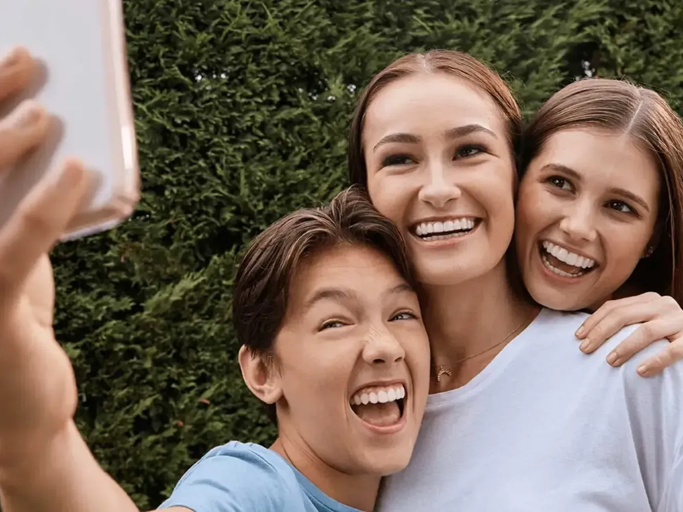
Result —
<svg viewBox="0 0 683 512"><path fill-rule="evenodd" d="M432 50L427 53L408 53L378 72L361 94L351 121L348 141L348 172L351 183L365 186L367 169L363 156L363 122L370 102L387 85L404 76L416 73L446 73L469 81L492 98L507 122L512 151L516 150L522 132L519 106L501 77L484 63L466 53Z"/></svg>

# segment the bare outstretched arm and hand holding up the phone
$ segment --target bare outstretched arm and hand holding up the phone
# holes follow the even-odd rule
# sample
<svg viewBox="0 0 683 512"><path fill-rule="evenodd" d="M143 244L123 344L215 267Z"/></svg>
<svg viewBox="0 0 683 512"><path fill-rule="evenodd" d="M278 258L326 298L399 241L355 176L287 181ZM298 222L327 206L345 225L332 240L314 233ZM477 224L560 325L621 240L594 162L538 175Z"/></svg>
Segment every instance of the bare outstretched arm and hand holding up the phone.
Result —
<svg viewBox="0 0 683 512"><path fill-rule="evenodd" d="M0 101L35 69L26 51L0 63ZM0 169L44 139L48 115L24 102L0 119ZM76 383L55 340L55 289L48 252L88 187L66 162L0 226L0 506L4 512L138 512L97 464L72 420ZM187 509L176 509L185 511Z"/></svg>

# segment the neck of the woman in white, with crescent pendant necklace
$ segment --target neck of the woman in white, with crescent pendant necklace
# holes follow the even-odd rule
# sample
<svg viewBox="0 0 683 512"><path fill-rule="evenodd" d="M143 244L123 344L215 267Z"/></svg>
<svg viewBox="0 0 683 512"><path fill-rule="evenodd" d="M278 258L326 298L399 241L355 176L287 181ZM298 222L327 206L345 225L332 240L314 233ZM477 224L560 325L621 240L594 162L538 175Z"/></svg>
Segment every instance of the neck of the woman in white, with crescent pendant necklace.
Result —
<svg viewBox="0 0 683 512"><path fill-rule="evenodd" d="M540 311L515 291L504 259L484 276L458 285L425 285L421 294L432 362L450 373L437 381L434 372L432 393L475 378Z"/></svg>

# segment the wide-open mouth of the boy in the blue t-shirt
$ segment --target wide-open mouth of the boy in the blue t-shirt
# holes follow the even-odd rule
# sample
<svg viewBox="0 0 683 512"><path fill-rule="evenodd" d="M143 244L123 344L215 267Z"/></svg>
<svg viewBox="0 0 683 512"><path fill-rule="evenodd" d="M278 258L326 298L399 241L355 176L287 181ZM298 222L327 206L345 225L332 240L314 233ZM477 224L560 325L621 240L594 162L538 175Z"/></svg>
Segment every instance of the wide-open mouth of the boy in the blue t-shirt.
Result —
<svg viewBox="0 0 683 512"><path fill-rule="evenodd" d="M398 425L404 414L406 388L403 384L367 386L351 397L351 410L372 427Z"/></svg>

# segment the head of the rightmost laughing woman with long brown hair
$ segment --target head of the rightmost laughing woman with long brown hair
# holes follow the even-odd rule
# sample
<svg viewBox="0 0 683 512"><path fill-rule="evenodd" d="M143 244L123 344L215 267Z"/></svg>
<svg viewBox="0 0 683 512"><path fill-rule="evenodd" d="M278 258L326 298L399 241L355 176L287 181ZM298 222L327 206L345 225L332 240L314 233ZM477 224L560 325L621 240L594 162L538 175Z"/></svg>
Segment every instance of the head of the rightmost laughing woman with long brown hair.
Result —
<svg viewBox="0 0 683 512"><path fill-rule="evenodd" d="M523 145L515 239L536 302L596 309L647 290L683 302L683 127L663 98L625 81L575 82L540 108ZM649 328L672 332L660 319Z"/></svg>

